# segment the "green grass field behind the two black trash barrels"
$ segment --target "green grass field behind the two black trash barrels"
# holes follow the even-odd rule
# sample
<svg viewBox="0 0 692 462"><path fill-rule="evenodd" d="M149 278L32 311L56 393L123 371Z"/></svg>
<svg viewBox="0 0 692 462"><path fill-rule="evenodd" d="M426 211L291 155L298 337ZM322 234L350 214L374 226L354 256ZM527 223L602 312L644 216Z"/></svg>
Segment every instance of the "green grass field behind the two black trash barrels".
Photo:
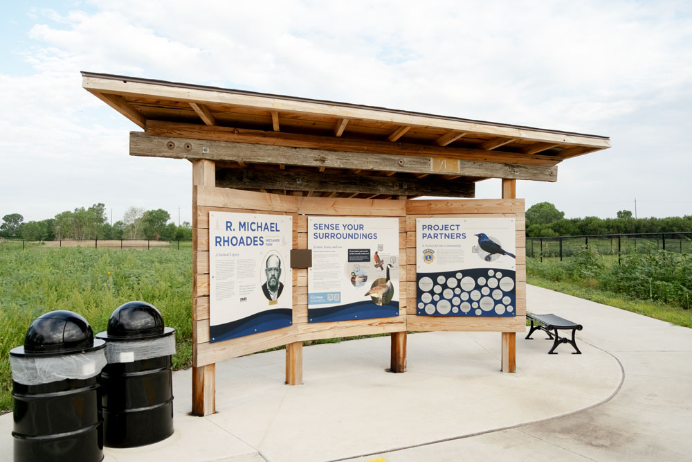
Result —
<svg viewBox="0 0 692 462"><path fill-rule="evenodd" d="M21 245L21 242L20 242ZM152 303L176 330L174 368L192 359L192 247L111 250L73 247L0 251L0 412L12 409L11 348L53 310L86 318L94 333L127 301Z"/></svg>

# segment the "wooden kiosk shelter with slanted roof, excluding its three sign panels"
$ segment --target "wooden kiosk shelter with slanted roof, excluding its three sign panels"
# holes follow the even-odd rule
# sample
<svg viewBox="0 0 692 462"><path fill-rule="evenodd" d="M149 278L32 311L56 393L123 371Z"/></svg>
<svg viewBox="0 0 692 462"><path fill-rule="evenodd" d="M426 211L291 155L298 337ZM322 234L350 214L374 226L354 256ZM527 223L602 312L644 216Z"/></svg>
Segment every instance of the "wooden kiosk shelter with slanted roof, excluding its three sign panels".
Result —
<svg viewBox="0 0 692 462"><path fill-rule="evenodd" d="M83 87L138 125L134 156L192 163L192 411L215 412L215 363L286 345L286 383L302 383L302 341L391 332L391 370L406 371L407 330L501 333L501 370L516 368L525 332L525 206L516 180L556 181L557 164L610 147L605 136L120 75L82 73ZM502 199L472 198L502 179ZM210 342L210 212L291 215L293 249L308 216L399 220L399 315L310 323L308 269L293 267L291 326ZM513 217L512 317L426 317L416 310L418 217Z"/></svg>

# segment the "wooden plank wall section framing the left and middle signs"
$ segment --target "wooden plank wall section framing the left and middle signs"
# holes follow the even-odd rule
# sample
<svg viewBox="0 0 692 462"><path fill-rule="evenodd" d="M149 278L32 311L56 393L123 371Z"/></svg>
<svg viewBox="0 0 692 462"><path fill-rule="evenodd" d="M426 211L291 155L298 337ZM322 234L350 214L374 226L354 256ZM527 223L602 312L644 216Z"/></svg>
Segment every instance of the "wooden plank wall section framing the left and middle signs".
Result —
<svg viewBox="0 0 692 462"><path fill-rule="evenodd" d="M195 367L255 353L295 341L406 331L406 201L272 195L253 191L194 186L196 251L193 255L193 354ZM238 339L209 342L209 212L293 215L293 248L307 249L307 215L399 218L399 316L308 323L307 269L293 269L293 326Z"/></svg>

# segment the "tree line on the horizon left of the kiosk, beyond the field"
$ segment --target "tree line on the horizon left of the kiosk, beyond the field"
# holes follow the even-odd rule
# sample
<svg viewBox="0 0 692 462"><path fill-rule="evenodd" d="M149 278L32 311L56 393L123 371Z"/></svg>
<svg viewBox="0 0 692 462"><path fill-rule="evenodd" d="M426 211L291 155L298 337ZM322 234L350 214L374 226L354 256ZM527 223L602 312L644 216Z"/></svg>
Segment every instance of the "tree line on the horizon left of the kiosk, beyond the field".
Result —
<svg viewBox="0 0 692 462"><path fill-rule="evenodd" d="M2 217L0 238L24 240L62 239L150 239L192 240L189 222L176 225L169 222L170 214L163 208L145 210L130 207L122 220L111 224L107 221L106 206L98 203L89 208L78 207L74 211L58 213L53 218L24 222L20 213L8 213Z"/></svg>

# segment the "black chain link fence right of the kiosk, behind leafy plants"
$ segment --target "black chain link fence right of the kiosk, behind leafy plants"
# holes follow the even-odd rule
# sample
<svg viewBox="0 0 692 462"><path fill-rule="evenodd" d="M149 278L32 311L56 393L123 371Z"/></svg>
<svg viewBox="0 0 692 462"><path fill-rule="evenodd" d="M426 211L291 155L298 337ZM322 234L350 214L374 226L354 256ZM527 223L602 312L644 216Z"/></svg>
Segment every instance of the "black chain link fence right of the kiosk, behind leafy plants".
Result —
<svg viewBox="0 0 692 462"><path fill-rule="evenodd" d="M692 253L692 231L684 233L594 234L592 236L557 236L527 238L526 255L534 258L574 256L580 249L596 249L601 255L646 253L652 247L675 252Z"/></svg>

